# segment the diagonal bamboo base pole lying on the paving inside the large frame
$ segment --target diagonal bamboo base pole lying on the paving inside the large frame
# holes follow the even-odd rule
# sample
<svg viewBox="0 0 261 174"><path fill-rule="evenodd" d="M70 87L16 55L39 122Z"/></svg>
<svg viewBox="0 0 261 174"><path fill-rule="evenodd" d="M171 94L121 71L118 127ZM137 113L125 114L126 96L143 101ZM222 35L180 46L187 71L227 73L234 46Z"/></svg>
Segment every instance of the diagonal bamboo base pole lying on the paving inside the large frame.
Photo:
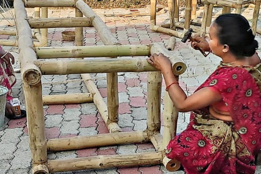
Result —
<svg viewBox="0 0 261 174"><path fill-rule="evenodd" d="M105 59L105 60L111 60L111 59ZM94 67L97 69L97 67ZM85 69L88 69L85 67ZM110 69L110 68L109 68ZM82 79L91 79L90 74L81 74ZM93 102L97 106L98 111L100 112L100 115L102 116L103 121L107 125L107 128L110 133L116 133L121 132L121 128L118 126L117 123L114 122L108 122L108 107L106 103L104 102L99 90L97 89L96 85L92 80L85 80L84 81L86 88L89 92L94 93L93 95Z"/></svg>

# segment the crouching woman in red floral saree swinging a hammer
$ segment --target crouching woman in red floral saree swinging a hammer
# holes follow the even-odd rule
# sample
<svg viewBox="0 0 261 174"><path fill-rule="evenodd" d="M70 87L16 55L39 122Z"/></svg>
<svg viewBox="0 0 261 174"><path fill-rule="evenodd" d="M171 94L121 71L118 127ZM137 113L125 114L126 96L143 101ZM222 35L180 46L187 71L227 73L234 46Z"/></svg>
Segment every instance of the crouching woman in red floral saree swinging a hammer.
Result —
<svg viewBox="0 0 261 174"><path fill-rule="evenodd" d="M181 112L191 111L185 131L167 146L188 174L255 173L254 155L261 137L261 63L248 21L220 15L210 26L209 43L195 38L192 47L222 58L210 77L187 97L162 54L147 61L161 70L166 90Z"/></svg>

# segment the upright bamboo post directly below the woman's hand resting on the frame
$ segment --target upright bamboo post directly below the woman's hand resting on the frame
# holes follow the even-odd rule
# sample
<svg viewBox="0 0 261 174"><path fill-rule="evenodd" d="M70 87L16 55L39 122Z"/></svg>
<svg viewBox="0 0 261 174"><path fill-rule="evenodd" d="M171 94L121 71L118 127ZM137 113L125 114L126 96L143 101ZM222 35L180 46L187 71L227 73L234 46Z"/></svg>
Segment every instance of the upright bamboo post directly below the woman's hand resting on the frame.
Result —
<svg viewBox="0 0 261 174"><path fill-rule="evenodd" d="M148 73L147 129L153 133L161 129L161 83L160 71Z"/></svg>

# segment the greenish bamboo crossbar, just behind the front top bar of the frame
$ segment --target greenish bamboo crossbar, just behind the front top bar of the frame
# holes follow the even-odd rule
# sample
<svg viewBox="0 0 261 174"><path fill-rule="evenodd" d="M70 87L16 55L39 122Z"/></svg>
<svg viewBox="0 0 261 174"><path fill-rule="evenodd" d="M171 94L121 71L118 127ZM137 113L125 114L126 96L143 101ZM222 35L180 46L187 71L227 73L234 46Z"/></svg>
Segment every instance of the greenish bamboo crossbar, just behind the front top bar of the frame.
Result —
<svg viewBox="0 0 261 174"><path fill-rule="evenodd" d="M37 56L43 58L149 56L150 45L96 45L38 47Z"/></svg>

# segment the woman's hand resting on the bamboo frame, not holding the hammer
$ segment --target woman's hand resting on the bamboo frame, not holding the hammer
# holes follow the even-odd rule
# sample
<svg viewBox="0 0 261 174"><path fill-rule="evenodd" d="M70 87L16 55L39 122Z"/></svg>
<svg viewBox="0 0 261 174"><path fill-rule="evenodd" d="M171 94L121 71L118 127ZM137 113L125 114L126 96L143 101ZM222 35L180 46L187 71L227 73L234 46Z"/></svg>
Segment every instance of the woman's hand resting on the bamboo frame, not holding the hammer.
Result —
<svg viewBox="0 0 261 174"><path fill-rule="evenodd" d="M162 53L151 55L150 58L147 58L147 62L160 70L162 74L172 71L170 60Z"/></svg>

